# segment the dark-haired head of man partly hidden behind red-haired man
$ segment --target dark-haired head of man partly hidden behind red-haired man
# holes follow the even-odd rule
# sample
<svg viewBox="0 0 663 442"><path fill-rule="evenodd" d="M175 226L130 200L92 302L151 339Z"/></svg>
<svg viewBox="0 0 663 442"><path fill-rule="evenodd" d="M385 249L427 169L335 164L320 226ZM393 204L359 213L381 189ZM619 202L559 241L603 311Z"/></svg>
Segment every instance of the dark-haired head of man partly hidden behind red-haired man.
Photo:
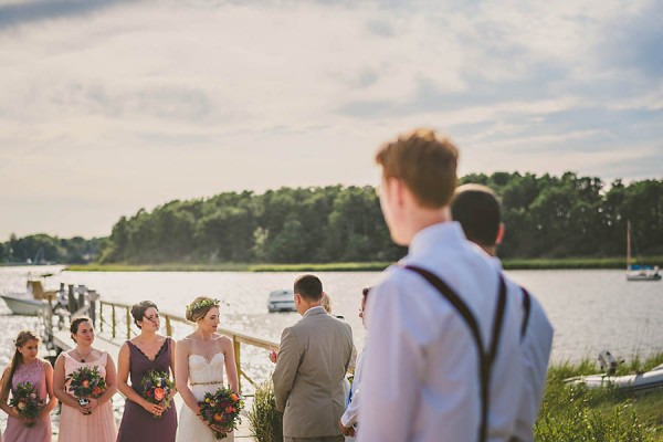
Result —
<svg viewBox="0 0 663 442"><path fill-rule="evenodd" d="M490 254L502 242L504 225L499 198L481 185L463 185L451 199L451 217L461 223L465 236Z"/></svg>

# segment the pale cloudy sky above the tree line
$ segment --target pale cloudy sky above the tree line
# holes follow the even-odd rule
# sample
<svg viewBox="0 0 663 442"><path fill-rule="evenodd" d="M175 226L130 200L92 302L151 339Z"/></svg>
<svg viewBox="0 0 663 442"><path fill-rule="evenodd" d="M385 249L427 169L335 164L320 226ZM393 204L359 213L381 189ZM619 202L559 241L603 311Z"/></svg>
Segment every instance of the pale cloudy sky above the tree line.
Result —
<svg viewBox="0 0 663 442"><path fill-rule="evenodd" d="M460 173L661 179L663 0L0 0L0 241L173 199Z"/></svg>

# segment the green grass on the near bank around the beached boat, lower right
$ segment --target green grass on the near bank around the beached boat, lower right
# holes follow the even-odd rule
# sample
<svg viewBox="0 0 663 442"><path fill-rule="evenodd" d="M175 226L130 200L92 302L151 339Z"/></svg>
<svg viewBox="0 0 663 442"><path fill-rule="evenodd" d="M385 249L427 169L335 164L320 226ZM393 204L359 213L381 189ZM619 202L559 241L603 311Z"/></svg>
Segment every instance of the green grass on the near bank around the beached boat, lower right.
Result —
<svg viewBox="0 0 663 442"><path fill-rule="evenodd" d="M622 364L618 375L646 371L662 362L663 354L645 360L635 358ZM570 377L599 371L589 360L550 367L535 440L663 442L663 389L633 396L564 382Z"/></svg>

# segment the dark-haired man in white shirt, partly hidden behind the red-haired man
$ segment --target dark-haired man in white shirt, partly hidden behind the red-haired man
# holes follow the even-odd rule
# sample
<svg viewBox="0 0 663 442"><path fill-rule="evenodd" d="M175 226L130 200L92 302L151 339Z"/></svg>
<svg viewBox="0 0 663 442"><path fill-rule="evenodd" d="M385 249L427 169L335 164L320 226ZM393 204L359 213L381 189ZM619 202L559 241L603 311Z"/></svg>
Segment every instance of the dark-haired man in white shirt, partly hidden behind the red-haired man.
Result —
<svg viewBox="0 0 663 442"><path fill-rule="evenodd" d="M497 245L504 238L504 224L502 223L499 200L495 192L480 185L461 186L452 198L451 214L463 227L465 236L488 255L494 256L496 263L499 263L495 256ZM516 285L511 281L508 283ZM525 290L522 290L520 293L517 290L515 292L518 295L516 303L523 309L520 350L524 358L525 388L518 408L514 436L518 441L533 441L533 428L546 388L554 330L538 299Z"/></svg>

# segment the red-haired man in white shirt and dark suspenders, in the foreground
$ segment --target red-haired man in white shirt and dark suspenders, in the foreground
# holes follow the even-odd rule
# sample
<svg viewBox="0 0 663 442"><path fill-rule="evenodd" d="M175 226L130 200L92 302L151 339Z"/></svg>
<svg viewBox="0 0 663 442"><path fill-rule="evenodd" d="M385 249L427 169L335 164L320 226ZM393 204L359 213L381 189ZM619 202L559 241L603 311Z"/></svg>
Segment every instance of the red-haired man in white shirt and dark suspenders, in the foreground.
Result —
<svg viewBox="0 0 663 442"><path fill-rule="evenodd" d="M451 219L457 150L434 131L418 129L383 145L376 161L382 167L380 203L391 239L409 245L409 253L383 272L368 299L358 441L506 441L522 392L518 311L497 266ZM446 283L476 327L407 266ZM494 327L497 317L501 327ZM484 390L480 367L493 343Z"/></svg>

